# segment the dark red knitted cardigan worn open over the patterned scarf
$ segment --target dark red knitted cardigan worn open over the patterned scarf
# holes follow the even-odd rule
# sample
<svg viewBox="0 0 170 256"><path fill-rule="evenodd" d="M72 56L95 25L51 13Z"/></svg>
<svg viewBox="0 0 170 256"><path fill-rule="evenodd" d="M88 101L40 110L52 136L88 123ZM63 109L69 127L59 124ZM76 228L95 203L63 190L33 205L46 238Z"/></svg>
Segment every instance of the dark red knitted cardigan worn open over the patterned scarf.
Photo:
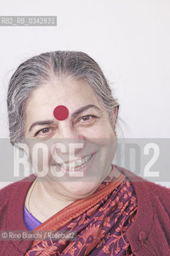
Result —
<svg viewBox="0 0 170 256"><path fill-rule="evenodd" d="M131 180L137 197L135 222L126 233L132 253L136 256L169 256L170 190L118 168ZM0 190L0 230L27 230L23 207L35 178L31 175ZM25 255L31 243L26 240L0 241L0 255Z"/></svg>

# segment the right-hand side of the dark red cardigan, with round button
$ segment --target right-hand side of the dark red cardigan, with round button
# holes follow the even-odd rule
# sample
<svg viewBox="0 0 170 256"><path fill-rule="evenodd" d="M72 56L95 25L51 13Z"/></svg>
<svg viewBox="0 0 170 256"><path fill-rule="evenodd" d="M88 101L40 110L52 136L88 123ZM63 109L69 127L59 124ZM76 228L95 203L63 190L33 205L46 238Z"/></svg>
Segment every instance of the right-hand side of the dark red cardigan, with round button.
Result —
<svg viewBox="0 0 170 256"><path fill-rule="evenodd" d="M170 190L118 167L136 193L135 220L126 232L133 251L139 255L169 255ZM147 248L147 251L146 251Z"/></svg>

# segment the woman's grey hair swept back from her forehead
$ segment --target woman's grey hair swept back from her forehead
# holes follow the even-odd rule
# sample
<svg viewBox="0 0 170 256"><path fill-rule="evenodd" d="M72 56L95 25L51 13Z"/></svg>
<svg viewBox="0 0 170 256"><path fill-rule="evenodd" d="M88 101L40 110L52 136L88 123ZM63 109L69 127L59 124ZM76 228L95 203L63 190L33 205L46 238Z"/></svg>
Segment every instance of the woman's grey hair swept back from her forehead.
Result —
<svg viewBox="0 0 170 256"><path fill-rule="evenodd" d="M101 68L81 51L53 51L34 56L18 66L10 78L7 94L10 142L25 140L25 106L33 90L56 77L71 77L87 82L113 122L113 110L119 104L113 98ZM113 127L114 129L115 127Z"/></svg>

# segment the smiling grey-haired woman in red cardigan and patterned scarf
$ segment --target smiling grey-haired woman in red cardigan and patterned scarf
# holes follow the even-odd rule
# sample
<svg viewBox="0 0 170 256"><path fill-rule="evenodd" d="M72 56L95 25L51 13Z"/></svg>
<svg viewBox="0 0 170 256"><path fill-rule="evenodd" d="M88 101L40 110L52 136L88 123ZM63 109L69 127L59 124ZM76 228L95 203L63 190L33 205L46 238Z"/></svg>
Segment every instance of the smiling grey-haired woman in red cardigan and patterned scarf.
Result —
<svg viewBox="0 0 170 256"><path fill-rule="evenodd" d="M1 255L170 255L170 192L112 164L119 106L97 62L74 51L30 58L7 105L10 142L36 175L1 190L1 230L77 237L4 240Z"/></svg>

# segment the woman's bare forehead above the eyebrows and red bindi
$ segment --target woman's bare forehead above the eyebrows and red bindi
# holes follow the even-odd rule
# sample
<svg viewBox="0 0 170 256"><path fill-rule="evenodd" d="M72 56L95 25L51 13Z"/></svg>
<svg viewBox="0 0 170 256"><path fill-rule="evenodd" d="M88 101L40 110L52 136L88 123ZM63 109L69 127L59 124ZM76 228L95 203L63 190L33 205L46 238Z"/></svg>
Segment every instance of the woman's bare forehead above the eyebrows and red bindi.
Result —
<svg viewBox="0 0 170 256"><path fill-rule="evenodd" d="M39 86L26 102L26 118L45 118L53 109L64 105L69 113L81 106L93 104L102 109L93 90L86 82L73 78L60 78Z"/></svg>

